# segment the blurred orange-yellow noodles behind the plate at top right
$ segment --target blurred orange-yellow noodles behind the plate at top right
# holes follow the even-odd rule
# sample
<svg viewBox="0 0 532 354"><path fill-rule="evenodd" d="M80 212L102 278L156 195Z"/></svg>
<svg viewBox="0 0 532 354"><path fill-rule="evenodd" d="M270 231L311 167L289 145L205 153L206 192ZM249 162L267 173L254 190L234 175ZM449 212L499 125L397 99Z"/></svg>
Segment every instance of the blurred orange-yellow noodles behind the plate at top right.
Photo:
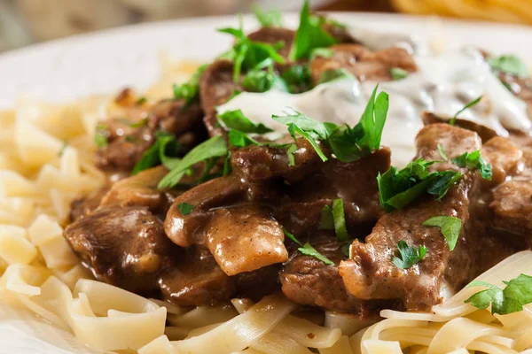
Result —
<svg viewBox="0 0 532 354"><path fill-rule="evenodd" d="M532 24L527 0L392 0L395 8L416 14Z"/></svg>

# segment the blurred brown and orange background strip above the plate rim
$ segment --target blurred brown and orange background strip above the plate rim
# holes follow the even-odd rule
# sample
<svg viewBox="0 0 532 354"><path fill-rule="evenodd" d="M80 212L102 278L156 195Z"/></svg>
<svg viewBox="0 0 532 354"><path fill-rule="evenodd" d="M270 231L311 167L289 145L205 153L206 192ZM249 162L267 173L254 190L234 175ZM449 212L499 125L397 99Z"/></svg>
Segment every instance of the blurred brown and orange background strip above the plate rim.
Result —
<svg viewBox="0 0 532 354"><path fill-rule="evenodd" d="M297 11L301 0L0 0L0 51L132 23L250 12ZM438 14L532 24L532 0L311 0L319 11Z"/></svg>

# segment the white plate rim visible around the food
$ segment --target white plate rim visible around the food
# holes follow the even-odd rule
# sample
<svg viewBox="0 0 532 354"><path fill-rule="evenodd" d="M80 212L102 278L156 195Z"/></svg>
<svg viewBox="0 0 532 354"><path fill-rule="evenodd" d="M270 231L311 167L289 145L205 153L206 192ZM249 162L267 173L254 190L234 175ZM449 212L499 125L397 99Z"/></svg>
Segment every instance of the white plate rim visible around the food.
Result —
<svg viewBox="0 0 532 354"><path fill-rule="evenodd" d="M334 17L348 25L432 36L440 45L473 44L496 53L512 53L532 64L531 27L370 13L338 13ZM288 25L296 21L296 16L286 16ZM245 23L246 30L257 26L249 17ZM0 109L12 106L23 94L61 102L112 93L124 86L146 88L158 77L161 50L176 59L207 61L231 45L231 38L217 34L215 28L237 24L235 17L160 22L6 53L0 56ZM14 312L0 304L0 353L68 352L94 351L27 312Z"/></svg>

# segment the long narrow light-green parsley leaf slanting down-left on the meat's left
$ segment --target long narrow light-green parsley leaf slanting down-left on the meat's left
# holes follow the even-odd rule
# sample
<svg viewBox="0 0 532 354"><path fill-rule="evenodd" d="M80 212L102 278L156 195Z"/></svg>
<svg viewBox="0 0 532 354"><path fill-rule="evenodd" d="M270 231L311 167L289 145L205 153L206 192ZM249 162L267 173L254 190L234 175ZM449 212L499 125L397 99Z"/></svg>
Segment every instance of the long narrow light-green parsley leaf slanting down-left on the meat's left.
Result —
<svg viewBox="0 0 532 354"><path fill-rule="evenodd" d="M181 178L183 178L184 173L186 173L192 165L209 158L224 157L227 155L227 152L227 143L222 136L213 136L206 142L201 142L200 145L197 145L194 149L190 150L184 158L173 165L172 170L160 180L158 188L165 189L175 187L179 181L181 181Z"/></svg>

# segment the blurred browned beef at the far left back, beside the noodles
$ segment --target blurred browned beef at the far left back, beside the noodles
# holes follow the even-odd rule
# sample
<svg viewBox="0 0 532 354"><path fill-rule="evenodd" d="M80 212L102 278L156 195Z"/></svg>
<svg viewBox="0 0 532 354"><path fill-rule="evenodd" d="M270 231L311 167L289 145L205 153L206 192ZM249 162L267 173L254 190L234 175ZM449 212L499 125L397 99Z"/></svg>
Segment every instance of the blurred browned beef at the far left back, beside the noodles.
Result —
<svg viewBox="0 0 532 354"><path fill-rule="evenodd" d="M201 123L200 104L185 104L184 100L162 100L150 108L133 106L128 118L109 119L101 134L107 145L97 152L97 165L106 172L129 173L153 142L158 130L176 135L180 153L206 139Z"/></svg>

